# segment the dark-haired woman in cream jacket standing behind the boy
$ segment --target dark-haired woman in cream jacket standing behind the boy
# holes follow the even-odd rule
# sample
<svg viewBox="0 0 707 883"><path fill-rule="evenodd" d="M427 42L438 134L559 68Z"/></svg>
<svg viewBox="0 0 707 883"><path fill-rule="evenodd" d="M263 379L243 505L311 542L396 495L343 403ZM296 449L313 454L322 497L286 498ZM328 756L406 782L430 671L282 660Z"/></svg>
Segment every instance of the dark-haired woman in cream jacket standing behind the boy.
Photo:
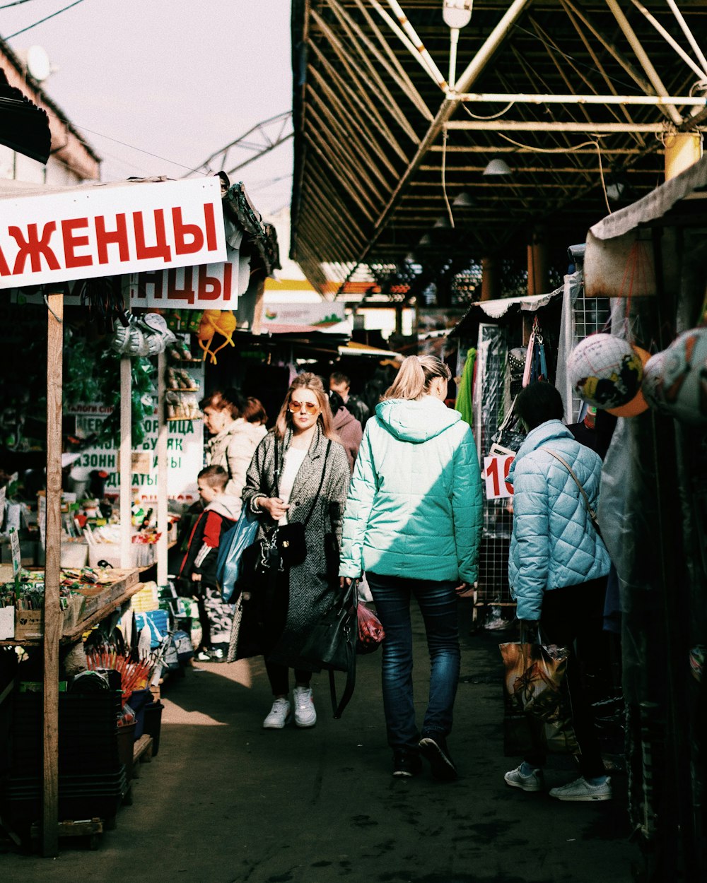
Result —
<svg viewBox="0 0 707 883"><path fill-rule="evenodd" d="M248 465L265 434L264 428L244 419L248 404L238 389L217 390L202 399L200 406L204 428L211 434L206 444L206 464L223 466L228 472L225 493L240 498ZM240 505L236 516L239 514Z"/></svg>

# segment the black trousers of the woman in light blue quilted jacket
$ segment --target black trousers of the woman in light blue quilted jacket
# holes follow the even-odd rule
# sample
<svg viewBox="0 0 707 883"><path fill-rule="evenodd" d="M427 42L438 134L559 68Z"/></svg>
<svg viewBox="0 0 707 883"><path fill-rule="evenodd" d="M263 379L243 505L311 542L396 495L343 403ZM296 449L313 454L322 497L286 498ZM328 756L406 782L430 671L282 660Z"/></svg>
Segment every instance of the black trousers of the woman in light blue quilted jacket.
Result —
<svg viewBox="0 0 707 883"><path fill-rule="evenodd" d="M540 616L544 642L570 648L565 677L572 703L574 734L582 751L577 759L580 771L586 778L605 774L594 713L582 675L583 658L590 657L597 645L604 643L602 629L605 594L606 577L552 589L543 595ZM536 747L524 759L530 766L544 765L545 751L539 739L539 728Z"/></svg>

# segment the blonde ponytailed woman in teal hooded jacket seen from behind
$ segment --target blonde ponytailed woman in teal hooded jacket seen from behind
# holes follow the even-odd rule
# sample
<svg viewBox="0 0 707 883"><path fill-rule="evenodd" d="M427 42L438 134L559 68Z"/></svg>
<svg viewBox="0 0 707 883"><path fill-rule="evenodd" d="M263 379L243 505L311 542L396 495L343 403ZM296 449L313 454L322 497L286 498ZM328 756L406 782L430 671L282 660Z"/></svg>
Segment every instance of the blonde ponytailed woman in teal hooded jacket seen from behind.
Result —
<svg viewBox="0 0 707 883"><path fill-rule="evenodd" d="M483 502L471 429L444 404L450 377L438 358L406 358L366 424L339 570L349 582L366 571L385 630L383 698L393 775L420 773L422 751L443 781L457 776L446 747L460 670L455 590L476 581ZM430 650L422 735L414 720L413 596Z"/></svg>

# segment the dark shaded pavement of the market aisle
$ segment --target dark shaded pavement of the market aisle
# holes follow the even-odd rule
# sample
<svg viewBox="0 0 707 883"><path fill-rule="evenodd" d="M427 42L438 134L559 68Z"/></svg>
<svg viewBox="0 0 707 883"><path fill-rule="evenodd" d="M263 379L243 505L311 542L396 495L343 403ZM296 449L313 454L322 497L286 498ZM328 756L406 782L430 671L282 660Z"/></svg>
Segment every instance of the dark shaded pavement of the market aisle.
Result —
<svg viewBox="0 0 707 883"><path fill-rule="evenodd" d="M0 857L12 883L146 879L207 883L609 883L630 881L626 781L614 800L563 804L508 788L501 721L499 631L468 633L450 751L460 781L429 767L391 775L380 696L380 653L359 658L356 694L331 718L326 675L315 676L314 729L263 730L270 695L262 660L198 663L165 691L158 756L141 766L134 801L98 851L70 841L57 859ZM414 618L415 696L429 664ZM343 677L343 675L340 675ZM575 777L554 757L548 788Z"/></svg>

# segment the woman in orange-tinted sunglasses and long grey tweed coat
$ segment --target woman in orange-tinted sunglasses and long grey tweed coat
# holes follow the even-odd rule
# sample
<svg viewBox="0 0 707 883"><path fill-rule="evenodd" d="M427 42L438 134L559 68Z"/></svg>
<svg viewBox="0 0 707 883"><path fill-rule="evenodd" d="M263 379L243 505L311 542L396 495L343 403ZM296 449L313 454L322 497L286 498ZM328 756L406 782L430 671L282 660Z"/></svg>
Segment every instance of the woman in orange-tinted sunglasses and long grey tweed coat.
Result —
<svg viewBox="0 0 707 883"><path fill-rule="evenodd" d="M289 668L295 677L294 722L298 727L316 722L309 684L318 669L300 658L300 648L331 607L331 592L338 586L338 553L327 562L324 536L334 533L341 541L349 479L346 451L331 427L323 383L315 374L299 374L287 390L275 428L255 450L243 489L243 504L261 519L258 540L276 525L306 523L304 562L277 573L271 603L263 605L265 590L260 587L251 597L244 592L233 621L229 661L265 657L274 696L262 724L266 729L281 729L292 719Z"/></svg>

